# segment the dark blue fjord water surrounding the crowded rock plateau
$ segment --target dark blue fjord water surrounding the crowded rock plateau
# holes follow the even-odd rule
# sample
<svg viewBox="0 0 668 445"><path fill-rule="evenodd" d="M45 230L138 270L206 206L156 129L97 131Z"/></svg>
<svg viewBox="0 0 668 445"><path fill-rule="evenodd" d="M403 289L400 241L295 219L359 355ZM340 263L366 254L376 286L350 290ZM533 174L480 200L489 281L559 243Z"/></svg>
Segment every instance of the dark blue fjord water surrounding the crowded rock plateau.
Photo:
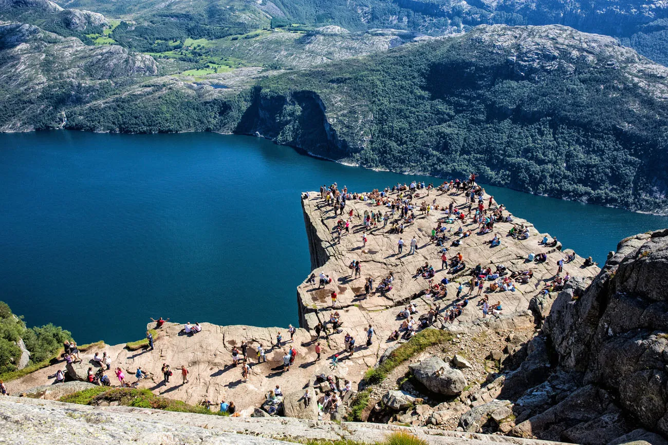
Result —
<svg viewBox="0 0 668 445"><path fill-rule="evenodd" d="M300 191L409 179L214 133L0 134L0 147L0 300L79 343L142 338L150 316L296 324L295 288L310 272ZM666 217L486 189L599 262L621 238L668 227Z"/></svg>

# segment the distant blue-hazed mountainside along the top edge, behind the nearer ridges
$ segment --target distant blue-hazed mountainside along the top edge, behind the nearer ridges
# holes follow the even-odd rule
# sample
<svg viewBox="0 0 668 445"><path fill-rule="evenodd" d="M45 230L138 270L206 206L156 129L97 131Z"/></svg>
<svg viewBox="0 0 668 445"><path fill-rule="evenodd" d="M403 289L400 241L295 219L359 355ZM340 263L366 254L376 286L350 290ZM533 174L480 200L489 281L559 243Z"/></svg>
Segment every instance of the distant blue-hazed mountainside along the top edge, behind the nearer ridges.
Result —
<svg viewBox="0 0 668 445"><path fill-rule="evenodd" d="M114 31L114 39L142 51L147 46L160 49L156 41L218 38L269 27L308 29L338 25L351 31L394 28L441 35L468 31L481 24L560 24L617 37L642 55L668 63L668 3L661 0L58 0L57 3L135 20L139 26Z"/></svg>

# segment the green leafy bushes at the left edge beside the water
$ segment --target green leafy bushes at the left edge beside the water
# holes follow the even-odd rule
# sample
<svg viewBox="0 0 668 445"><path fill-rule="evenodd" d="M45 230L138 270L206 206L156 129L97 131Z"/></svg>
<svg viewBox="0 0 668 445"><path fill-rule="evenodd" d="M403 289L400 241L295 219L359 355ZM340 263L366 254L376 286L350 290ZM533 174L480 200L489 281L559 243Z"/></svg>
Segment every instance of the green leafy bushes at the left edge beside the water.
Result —
<svg viewBox="0 0 668 445"><path fill-rule="evenodd" d="M0 374L17 369L21 357L17 342L21 339L30 352L29 364L33 364L49 360L63 347L63 342L71 340L71 334L50 323L27 328L23 317L15 316L5 302L0 302Z"/></svg>

